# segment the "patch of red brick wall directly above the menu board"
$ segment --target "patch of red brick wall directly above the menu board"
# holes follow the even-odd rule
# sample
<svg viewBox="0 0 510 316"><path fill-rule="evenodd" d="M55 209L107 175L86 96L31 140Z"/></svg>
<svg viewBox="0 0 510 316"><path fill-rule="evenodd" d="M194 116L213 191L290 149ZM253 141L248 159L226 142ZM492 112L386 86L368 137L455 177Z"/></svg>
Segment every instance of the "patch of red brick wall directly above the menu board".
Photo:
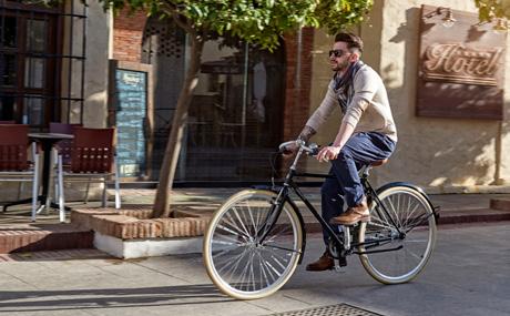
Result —
<svg viewBox="0 0 510 316"><path fill-rule="evenodd" d="M113 21L113 58L120 61L141 62L145 12L129 13L126 9Z"/></svg>

